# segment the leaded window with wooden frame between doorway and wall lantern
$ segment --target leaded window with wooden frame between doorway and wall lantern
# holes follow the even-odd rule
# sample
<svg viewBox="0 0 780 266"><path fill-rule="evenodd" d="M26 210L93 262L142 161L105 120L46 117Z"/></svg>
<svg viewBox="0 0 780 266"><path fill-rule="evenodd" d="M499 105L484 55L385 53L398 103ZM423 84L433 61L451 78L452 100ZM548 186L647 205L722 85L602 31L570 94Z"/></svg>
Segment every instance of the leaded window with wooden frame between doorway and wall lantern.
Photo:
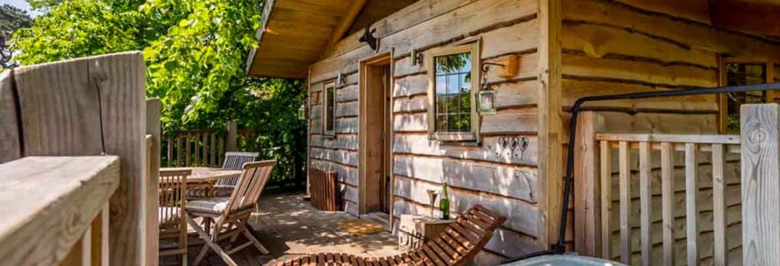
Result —
<svg viewBox="0 0 780 266"><path fill-rule="evenodd" d="M478 141L479 42L428 52L428 137Z"/></svg>

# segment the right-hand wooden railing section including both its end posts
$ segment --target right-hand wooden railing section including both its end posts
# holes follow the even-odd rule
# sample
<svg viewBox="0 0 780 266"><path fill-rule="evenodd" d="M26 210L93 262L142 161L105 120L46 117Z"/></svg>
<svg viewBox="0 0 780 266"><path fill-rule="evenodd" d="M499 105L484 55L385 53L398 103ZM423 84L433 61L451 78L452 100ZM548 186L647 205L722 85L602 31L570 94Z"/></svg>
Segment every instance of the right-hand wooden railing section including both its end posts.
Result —
<svg viewBox="0 0 780 266"><path fill-rule="evenodd" d="M583 113L575 239L591 248L578 249L631 265L780 264L778 113L743 106L741 136L599 133Z"/></svg>

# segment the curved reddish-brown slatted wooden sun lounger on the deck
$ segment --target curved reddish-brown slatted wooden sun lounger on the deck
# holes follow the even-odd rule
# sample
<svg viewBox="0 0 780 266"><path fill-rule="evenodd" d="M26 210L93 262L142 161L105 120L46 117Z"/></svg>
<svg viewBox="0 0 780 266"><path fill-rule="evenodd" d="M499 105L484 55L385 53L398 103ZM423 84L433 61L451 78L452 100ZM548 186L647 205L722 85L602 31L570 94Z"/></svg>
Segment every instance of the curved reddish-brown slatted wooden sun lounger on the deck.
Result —
<svg viewBox="0 0 780 266"><path fill-rule="evenodd" d="M351 254L310 254L277 265L466 265L471 262L493 231L506 218L495 215L485 207L476 205L456 219L438 238L422 247L401 255L381 258L363 258Z"/></svg>

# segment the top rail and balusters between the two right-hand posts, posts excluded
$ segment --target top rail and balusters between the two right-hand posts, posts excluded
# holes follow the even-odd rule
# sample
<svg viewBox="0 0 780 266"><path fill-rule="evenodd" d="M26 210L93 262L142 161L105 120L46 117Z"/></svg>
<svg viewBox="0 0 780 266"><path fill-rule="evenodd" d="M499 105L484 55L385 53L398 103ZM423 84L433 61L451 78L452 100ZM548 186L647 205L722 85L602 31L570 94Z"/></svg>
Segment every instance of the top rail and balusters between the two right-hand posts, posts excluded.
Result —
<svg viewBox="0 0 780 266"><path fill-rule="evenodd" d="M739 136L728 135L655 135L655 134L597 134L596 140L600 146L600 178L601 178L601 205L606 206L601 209L602 225L602 256L605 258L614 258L612 247L620 246L620 261L632 263L631 236L633 230L632 220L636 219L636 210L632 208L632 200L635 200L632 192L632 186L636 182L632 180L634 176L632 171L637 170L635 165L632 168L632 160L638 158L638 194L639 194L639 223L640 233L639 242L641 243L640 253L643 265L649 265L653 261L652 244L655 239L662 239L663 262L667 265L674 264L675 260L675 219L684 217L685 219L685 239L686 252L689 265L696 265L700 261L701 243L709 242L713 239L700 239L700 221L701 207L707 205L706 201L712 202L713 215L713 236L714 236L714 260L716 262L725 262L726 246L726 178L725 167L727 164L727 153L738 153ZM612 243L612 220L613 207L613 172L612 172L612 152L617 150L618 156L618 212L620 242ZM656 153L657 152L657 153ZM675 192L679 191L679 186L675 187L676 153L683 153L684 168L684 207L678 205L679 200L675 199ZM655 156L654 156L655 155ZM705 158L709 160L705 160ZM655 161L659 161L660 168L654 168ZM702 168L711 168L711 175L702 175L705 172ZM653 206L652 198L654 196L654 187L652 186L652 172L660 172L660 209L661 226L660 234L652 230ZM703 199L704 180L706 178L711 182L710 187L712 197ZM702 182L700 182L702 181ZM656 187L657 188L657 187ZM679 213L679 209L684 209L684 214ZM737 213L738 215L738 213ZM605 221L607 221L605 223ZM617 244L617 245L616 245Z"/></svg>

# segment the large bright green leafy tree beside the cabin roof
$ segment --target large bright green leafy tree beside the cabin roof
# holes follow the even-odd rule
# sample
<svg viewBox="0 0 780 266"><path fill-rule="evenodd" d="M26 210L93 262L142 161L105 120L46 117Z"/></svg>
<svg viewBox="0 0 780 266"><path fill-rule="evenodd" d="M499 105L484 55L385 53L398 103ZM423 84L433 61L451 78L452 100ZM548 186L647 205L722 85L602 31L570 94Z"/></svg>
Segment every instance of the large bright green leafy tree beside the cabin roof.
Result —
<svg viewBox="0 0 780 266"><path fill-rule="evenodd" d="M246 55L257 43L260 1L29 2L43 14L14 35L20 63L144 51L146 94L160 98L163 134L222 130L226 121L238 120L239 127L262 129L253 149L289 163L277 176L302 173L305 123L294 117L305 95L301 83L245 73Z"/></svg>

